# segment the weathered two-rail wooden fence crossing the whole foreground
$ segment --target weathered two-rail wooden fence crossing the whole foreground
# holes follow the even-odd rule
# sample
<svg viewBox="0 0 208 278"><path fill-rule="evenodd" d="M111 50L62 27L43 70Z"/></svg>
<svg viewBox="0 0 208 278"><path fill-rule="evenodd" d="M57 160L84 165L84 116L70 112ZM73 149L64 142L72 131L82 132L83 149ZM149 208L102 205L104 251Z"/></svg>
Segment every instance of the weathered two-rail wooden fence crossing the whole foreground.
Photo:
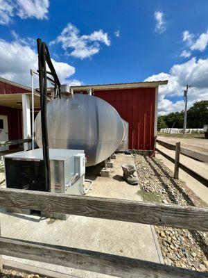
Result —
<svg viewBox="0 0 208 278"><path fill-rule="evenodd" d="M0 206L208 231L208 209L194 206L154 204L9 188L0 189ZM208 277L207 272L185 270L124 256L2 236L0 237L0 254L123 278ZM2 263L1 268L3 268ZM24 271L23 265L21 265L21 271Z"/></svg>

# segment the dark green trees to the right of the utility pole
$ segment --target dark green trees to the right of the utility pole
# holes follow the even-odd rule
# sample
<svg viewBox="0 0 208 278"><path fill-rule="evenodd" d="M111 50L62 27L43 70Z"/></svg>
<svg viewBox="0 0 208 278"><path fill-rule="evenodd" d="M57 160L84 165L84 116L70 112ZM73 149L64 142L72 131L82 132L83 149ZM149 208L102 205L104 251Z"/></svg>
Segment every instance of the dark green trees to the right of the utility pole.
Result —
<svg viewBox="0 0 208 278"><path fill-rule="evenodd" d="M187 111L187 128L201 129L208 124L208 100L198 101Z"/></svg>

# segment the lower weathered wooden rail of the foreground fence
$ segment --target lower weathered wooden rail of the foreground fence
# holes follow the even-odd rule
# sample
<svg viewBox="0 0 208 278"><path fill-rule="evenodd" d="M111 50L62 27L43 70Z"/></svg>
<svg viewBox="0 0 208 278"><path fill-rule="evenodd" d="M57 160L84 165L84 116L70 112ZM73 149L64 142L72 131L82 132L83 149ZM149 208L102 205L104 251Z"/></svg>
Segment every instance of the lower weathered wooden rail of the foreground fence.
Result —
<svg viewBox="0 0 208 278"><path fill-rule="evenodd" d="M53 263L123 278L205 278L205 272L184 270L124 256L71 247L0 238L0 252L7 256Z"/></svg>

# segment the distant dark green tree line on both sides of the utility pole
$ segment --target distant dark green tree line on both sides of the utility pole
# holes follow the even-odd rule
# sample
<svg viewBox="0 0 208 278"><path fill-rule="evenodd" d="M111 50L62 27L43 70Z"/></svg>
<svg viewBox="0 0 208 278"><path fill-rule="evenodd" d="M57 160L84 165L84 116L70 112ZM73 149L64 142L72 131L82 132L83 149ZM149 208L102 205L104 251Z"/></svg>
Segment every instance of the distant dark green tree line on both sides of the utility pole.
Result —
<svg viewBox="0 0 208 278"><path fill-rule="evenodd" d="M208 101L198 101L187 111L187 129L200 129L208 123ZM169 113L159 116L157 120L158 130L166 127L182 129L184 124L184 111ZM166 126L165 126L166 125Z"/></svg>

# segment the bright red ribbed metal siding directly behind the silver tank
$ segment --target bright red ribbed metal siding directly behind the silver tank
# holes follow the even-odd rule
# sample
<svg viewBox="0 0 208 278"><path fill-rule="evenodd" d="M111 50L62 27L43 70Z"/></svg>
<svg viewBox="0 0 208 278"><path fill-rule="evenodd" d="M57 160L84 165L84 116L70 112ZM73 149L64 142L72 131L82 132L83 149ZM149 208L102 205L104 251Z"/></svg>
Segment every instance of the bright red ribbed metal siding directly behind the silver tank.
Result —
<svg viewBox="0 0 208 278"><path fill-rule="evenodd" d="M129 149L154 149L155 88L95 91L129 123Z"/></svg>

